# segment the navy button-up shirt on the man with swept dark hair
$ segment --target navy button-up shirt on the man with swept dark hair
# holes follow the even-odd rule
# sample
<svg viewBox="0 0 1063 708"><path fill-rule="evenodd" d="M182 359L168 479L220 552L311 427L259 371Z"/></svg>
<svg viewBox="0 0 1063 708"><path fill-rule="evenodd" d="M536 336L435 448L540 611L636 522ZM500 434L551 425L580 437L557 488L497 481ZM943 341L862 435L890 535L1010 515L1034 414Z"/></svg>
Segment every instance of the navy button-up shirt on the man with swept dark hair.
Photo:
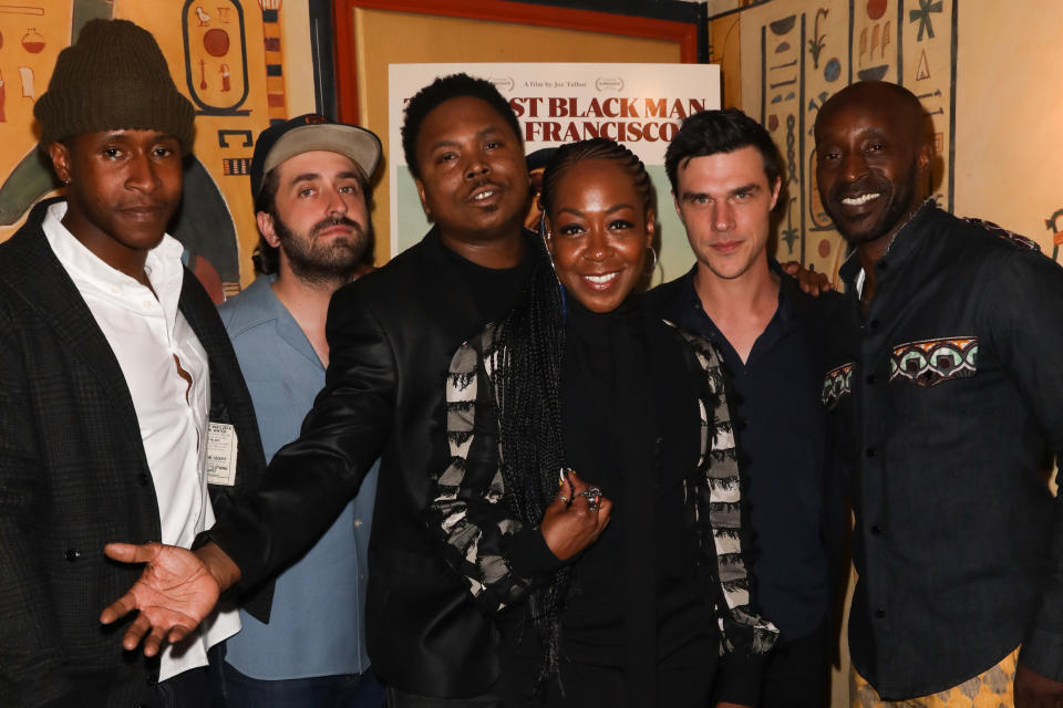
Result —
<svg viewBox="0 0 1063 708"><path fill-rule="evenodd" d="M772 267L777 272L777 264ZM747 480L757 602L778 627L781 642L791 642L815 632L830 603L822 529L823 344L797 316L796 293L780 287L778 308L743 363L702 309L693 274L682 279L678 324L704 335L723 354Z"/></svg>

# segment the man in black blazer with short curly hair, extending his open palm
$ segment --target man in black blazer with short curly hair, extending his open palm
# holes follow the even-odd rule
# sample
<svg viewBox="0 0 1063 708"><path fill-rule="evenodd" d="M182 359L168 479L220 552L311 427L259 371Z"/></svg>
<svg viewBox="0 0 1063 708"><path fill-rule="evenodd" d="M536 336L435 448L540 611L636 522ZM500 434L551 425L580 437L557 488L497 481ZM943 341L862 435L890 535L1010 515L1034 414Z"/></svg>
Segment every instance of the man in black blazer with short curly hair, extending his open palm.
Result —
<svg viewBox="0 0 1063 708"><path fill-rule="evenodd" d="M524 146L497 91L458 74L410 105L404 135L432 230L333 295L324 389L300 438L274 456L260 493L223 516L195 553L111 546L115 558L148 562L141 581L104 613L113 620L140 610L126 647L146 635L144 650L156 652L195 626L220 591L255 584L297 555L380 457L367 633L389 705L503 705L499 637L485 614L502 610L487 606L497 595L471 587L446 565L445 530L431 529L424 514L453 455L446 416L460 412L444 406L451 358L502 317L545 251L522 226L529 190ZM551 549L597 525L579 506L571 510L553 531L545 523L507 528L499 554L523 559L516 570L525 576L553 570L559 561Z"/></svg>

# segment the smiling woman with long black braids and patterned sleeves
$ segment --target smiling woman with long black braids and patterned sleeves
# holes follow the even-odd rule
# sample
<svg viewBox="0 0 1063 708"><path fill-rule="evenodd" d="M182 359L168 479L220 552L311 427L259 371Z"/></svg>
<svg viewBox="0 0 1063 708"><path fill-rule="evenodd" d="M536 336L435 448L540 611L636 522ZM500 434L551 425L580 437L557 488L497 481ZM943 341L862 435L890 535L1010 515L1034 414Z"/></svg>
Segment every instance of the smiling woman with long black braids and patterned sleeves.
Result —
<svg viewBox="0 0 1063 708"><path fill-rule="evenodd" d="M777 635L752 602L719 356L633 294L651 195L626 147L559 148L525 292L451 364L429 522L497 620L507 707L704 708L718 662L756 681Z"/></svg>

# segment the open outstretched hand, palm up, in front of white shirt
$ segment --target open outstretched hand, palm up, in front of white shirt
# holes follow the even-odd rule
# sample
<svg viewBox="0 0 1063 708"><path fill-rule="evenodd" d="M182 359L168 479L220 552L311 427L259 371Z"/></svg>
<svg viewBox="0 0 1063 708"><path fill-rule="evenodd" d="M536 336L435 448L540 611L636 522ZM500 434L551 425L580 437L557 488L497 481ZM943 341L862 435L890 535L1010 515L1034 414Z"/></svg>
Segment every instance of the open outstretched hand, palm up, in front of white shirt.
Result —
<svg viewBox="0 0 1063 708"><path fill-rule="evenodd" d="M100 622L111 624L140 611L122 637L122 646L128 650L143 639L144 655L155 656L164 641L176 644L188 636L218 602L220 582L187 549L109 543L103 552L122 563L146 563L136 583L100 615Z"/></svg>

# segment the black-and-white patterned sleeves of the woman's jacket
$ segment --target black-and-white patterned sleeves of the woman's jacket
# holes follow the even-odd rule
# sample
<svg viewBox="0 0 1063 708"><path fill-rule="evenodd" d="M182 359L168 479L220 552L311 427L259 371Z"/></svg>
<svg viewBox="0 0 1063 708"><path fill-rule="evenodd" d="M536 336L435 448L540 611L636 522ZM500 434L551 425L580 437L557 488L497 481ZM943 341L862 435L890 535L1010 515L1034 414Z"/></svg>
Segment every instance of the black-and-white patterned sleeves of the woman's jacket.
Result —
<svg viewBox="0 0 1063 708"><path fill-rule="evenodd" d="M699 398L698 466L703 473L698 482L684 482L685 513L696 530L704 562L714 566L719 579L715 606L723 635L721 650L764 654L775 643L778 629L758 616L751 598L741 479L720 356L704 339L668 324L691 346L706 383L705 393ZM426 514L429 522L443 532L448 562L489 613L518 602L533 582L518 576L504 554L506 537L523 530L524 524L508 516L504 503L497 423L485 424L483 410L477 416L478 408L494 404L485 399L489 396L485 392L492 388L495 362L506 355L493 346L494 333L494 327L488 326L477 340L465 343L451 361L446 382L451 462L436 481L435 498ZM493 456L489 471L469 461L485 455Z"/></svg>

